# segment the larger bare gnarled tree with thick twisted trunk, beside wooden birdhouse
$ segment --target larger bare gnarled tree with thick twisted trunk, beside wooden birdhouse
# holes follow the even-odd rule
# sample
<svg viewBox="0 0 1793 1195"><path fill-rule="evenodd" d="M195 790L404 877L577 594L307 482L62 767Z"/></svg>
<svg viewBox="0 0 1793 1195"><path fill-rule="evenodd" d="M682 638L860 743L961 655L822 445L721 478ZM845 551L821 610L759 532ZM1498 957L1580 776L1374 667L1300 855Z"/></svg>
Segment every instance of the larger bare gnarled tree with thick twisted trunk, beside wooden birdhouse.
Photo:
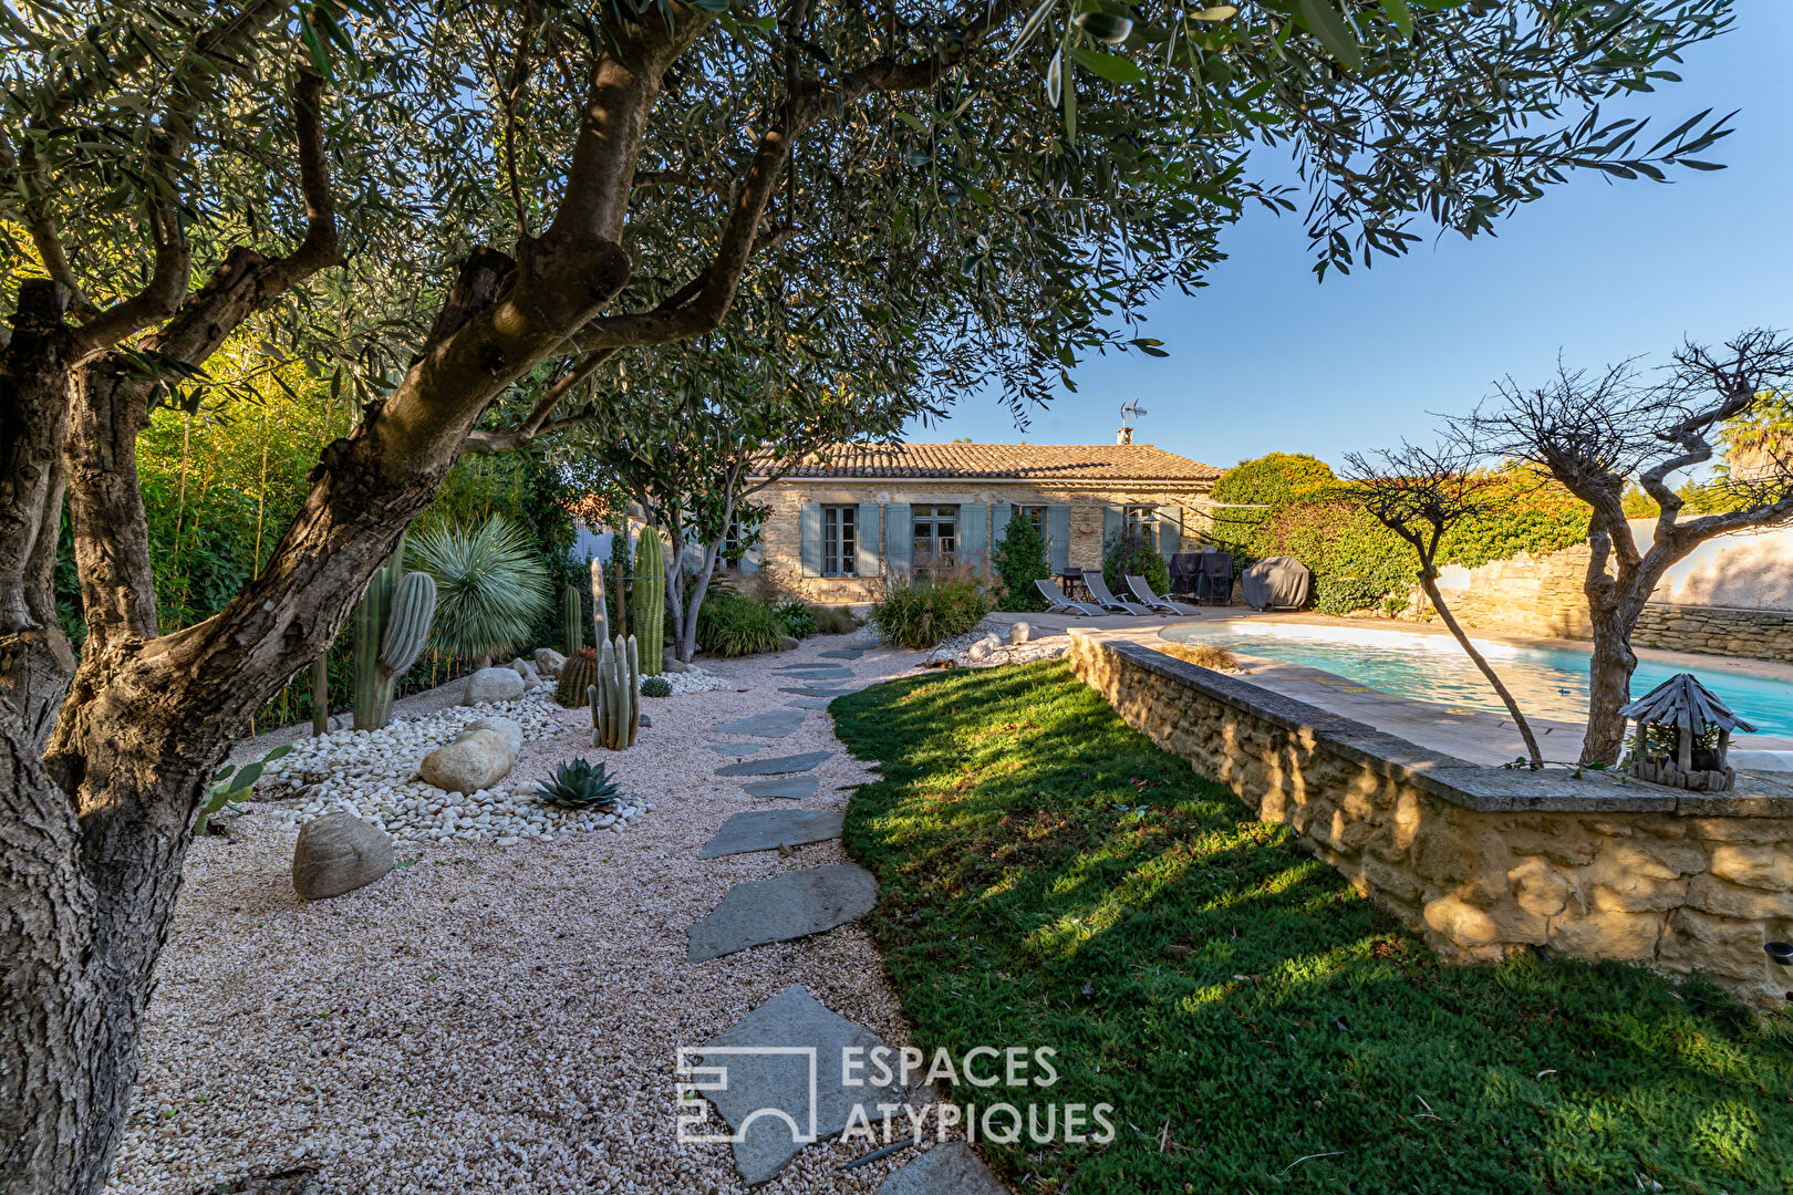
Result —
<svg viewBox="0 0 1793 1195"><path fill-rule="evenodd" d="M1594 627L1590 699L1581 763L1619 760L1630 701L1632 629L1671 564L1716 536L1793 520L1793 468L1779 460L1721 486L1732 509L1684 518L1675 473L1716 455L1723 425L1793 382L1793 339L1745 331L1721 348L1685 344L1657 374L1633 362L1603 373L1558 369L1542 387L1511 380L1492 403L1456 423L1468 451L1528 460L1592 507L1587 606ZM1639 546L1624 518L1624 489L1637 486L1657 507L1650 543Z"/></svg>

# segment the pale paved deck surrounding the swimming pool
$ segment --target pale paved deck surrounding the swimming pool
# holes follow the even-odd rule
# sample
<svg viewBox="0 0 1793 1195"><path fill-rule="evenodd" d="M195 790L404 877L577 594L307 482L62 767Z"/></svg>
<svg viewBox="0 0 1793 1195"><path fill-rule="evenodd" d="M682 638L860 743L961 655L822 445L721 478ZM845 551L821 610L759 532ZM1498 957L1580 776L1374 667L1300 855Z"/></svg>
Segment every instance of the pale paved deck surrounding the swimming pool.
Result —
<svg viewBox="0 0 1793 1195"><path fill-rule="evenodd" d="M1210 607L1203 609L1200 615L1191 618L1164 618L1164 616L1108 616L1108 618L1079 618L1072 615L993 615L992 618L1004 623L1026 622L1033 627L1033 640L1052 640L1065 636L1072 627L1088 632L1097 641L1106 640L1126 640L1133 643L1144 643L1148 647L1164 647L1160 632L1165 627L1194 623L1225 623L1225 622L1291 622L1302 625L1316 627L1375 627L1375 629L1395 629L1402 634L1434 634L1445 641L1451 650L1456 650L1456 643L1451 641L1451 632L1443 627L1434 627L1429 623L1416 622L1366 622L1361 618L1327 618L1323 615L1287 615L1287 613L1257 613L1243 607ZM1501 640L1504 643L1517 643L1526 647L1558 647L1576 652L1585 652L1587 643L1576 640L1542 640L1542 638L1520 638L1520 636L1485 636L1477 634L1477 640ZM1793 665L1780 665L1759 659L1732 659L1719 656L1696 656L1689 652L1657 652L1657 650L1639 650L1639 658L1655 659L1667 665L1675 665L1685 672L1707 672L1712 668L1723 668L1725 672L1739 672L1745 675L1755 675L1763 679L1779 679L1793 684ZM1359 722L1368 722L1379 731L1397 735L1420 747L1429 747L1433 751L1443 751L1454 754L1460 760L1468 760L1470 763L1508 763L1524 754L1526 745L1519 738L1519 731L1513 727L1511 718L1485 709L1465 709L1460 706L1415 701L1411 697L1395 697L1390 693L1377 692L1361 683L1350 681L1347 677L1336 675L1332 672L1323 672L1320 668L1305 668L1302 665L1282 663L1278 659L1266 659L1259 656L1237 654L1239 661L1244 665L1244 674L1241 679L1259 684L1262 688L1273 690L1286 697L1295 697L1311 706L1320 706L1330 713L1338 713ZM1499 668L1499 665L1495 665ZM1580 754L1583 724L1580 722L1562 722L1549 718L1531 718L1533 731L1538 735L1538 744L1544 751L1544 758L1551 761L1572 761ZM1754 751L1793 751L1793 738L1775 738L1770 735L1752 735L1737 744L1745 749Z"/></svg>

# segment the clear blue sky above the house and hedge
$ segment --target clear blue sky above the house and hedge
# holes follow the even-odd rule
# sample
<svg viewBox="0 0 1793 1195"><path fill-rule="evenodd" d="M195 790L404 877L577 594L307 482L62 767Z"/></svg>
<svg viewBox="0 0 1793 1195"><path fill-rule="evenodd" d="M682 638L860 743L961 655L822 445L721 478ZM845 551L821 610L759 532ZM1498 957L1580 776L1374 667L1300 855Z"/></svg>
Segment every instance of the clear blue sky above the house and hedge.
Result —
<svg viewBox="0 0 1793 1195"><path fill-rule="evenodd" d="M1542 380L1558 353L1599 365L1662 358L1684 337L1793 328L1793 4L1741 0L1734 29L1667 84L1612 113L1660 133L1714 107L1736 133L1702 154L1719 172L1669 185L1581 174L1522 206L1497 236L1447 233L1372 271L1316 283L1300 219L1248 215L1192 299L1160 301L1144 335L1171 351L1094 358L1017 432L993 398L911 428L913 441L1112 443L1139 398L1137 439L1208 464L1266 451L1339 462L1427 439L1429 410L1465 410L1495 378ZM1653 138L1650 138L1653 140ZM1648 143L1648 140L1646 140Z"/></svg>

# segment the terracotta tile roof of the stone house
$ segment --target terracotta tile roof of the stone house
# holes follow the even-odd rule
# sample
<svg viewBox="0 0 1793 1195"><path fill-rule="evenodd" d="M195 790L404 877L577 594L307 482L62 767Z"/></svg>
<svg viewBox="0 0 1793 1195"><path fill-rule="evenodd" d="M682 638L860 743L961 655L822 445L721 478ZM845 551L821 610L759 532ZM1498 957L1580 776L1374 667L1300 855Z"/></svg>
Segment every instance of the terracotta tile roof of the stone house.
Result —
<svg viewBox="0 0 1793 1195"><path fill-rule="evenodd" d="M1212 482L1212 464L1153 444L836 444L785 477L1011 477L1035 482Z"/></svg>

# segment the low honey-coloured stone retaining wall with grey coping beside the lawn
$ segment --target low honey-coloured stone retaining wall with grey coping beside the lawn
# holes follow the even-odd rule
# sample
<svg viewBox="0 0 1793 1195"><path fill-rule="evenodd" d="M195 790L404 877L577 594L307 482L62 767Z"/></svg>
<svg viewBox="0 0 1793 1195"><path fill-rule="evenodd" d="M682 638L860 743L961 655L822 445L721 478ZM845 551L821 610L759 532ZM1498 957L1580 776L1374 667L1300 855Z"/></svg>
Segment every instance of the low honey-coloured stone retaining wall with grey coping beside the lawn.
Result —
<svg viewBox="0 0 1793 1195"><path fill-rule="evenodd" d="M1121 717L1452 959L1547 948L1707 973L1782 1005L1793 971L1793 785L1691 794L1601 774L1479 767L1198 668L1072 632Z"/></svg>

